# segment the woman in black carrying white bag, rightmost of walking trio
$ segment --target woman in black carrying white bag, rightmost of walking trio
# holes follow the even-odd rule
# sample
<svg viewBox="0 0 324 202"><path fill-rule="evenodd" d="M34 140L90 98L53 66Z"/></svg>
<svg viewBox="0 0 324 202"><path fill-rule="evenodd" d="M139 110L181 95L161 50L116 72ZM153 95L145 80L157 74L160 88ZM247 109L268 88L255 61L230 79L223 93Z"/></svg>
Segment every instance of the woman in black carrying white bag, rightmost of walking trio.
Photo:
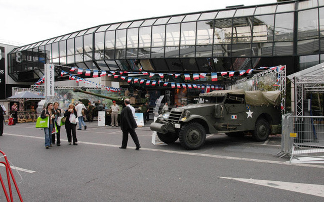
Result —
<svg viewBox="0 0 324 202"><path fill-rule="evenodd" d="M66 129L66 135L67 135L67 140L69 142L69 145L71 145L72 138L73 138L73 145L77 145L76 130L75 130L77 112L73 104L69 105L68 110L66 110L64 113L64 117L66 117L65 129ZM71 137L71 132L72 132L72 137Z"/></svg>

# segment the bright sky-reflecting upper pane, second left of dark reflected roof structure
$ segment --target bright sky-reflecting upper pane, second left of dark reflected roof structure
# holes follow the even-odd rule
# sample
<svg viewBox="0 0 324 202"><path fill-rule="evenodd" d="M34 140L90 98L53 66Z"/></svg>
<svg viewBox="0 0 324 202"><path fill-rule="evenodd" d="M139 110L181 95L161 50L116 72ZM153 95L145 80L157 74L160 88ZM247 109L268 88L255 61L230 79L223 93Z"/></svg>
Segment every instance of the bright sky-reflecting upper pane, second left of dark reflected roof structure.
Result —
<svg viewBox="0 0 324 202"><path fill-rule="evenodd" d="M181 45L195 45L196 22L181 24Z"/></svg>

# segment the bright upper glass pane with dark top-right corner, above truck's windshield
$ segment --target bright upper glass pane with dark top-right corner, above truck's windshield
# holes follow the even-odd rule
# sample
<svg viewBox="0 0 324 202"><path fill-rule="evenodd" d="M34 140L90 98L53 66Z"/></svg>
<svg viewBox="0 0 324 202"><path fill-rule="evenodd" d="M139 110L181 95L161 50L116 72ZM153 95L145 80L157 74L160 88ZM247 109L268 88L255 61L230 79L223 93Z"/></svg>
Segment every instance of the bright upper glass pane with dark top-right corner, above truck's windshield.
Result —
<svg viewBox="0 0 324 202"><path fill-rule="evenodd" d="M197 22L197 45L213 44L213 21ZM182 42L181 42L182 43Z"/></svg>

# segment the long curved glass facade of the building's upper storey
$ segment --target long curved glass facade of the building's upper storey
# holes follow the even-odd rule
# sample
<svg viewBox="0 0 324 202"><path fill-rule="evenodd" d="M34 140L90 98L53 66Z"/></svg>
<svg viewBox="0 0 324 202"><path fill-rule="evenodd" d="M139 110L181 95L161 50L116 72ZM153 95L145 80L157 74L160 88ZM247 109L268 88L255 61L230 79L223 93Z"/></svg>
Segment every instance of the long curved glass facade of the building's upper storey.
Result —
<svg viewBox="0 0 324 202"><path fill-rule="evenodd" d="M37 81L52 63L161 73L287 65L290 74L322 62L323 50L324 0L289 1L99 25L15 48L8 72Z"/></svg>

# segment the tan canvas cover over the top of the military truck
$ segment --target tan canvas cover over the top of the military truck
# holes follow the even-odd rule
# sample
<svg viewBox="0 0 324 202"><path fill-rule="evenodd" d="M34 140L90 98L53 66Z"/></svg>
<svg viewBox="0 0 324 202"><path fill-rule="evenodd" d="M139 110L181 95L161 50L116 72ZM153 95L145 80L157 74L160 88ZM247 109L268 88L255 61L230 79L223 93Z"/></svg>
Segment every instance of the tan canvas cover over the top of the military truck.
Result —
<svg viewBox="0 0 324 202"><path fill-rule="evenodd" d="M212 92L201 93L199 96L224 96L226 94L244 94L246 103L253 106L261 105L280 105L280 91L245 91L242 89L235 90L214 90Z"/></svg>

